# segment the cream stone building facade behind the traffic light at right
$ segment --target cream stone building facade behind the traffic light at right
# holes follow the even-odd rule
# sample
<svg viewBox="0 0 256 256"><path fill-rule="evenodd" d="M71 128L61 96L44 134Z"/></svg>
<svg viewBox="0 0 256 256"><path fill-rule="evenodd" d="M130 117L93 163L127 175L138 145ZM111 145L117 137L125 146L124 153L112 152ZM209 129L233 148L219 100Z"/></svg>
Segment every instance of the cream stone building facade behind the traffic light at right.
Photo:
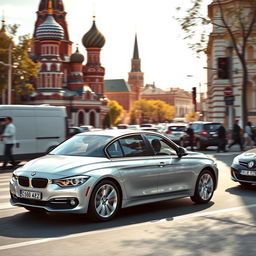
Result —
<svg viewBox="0 0 256 256"><path fill-rule="evenodd" d="M224 13L225 21L231 27L233 34L238 42L242 42L241 30L236 29L235 24L228 12L230 10L243 10L244 16L248 17L248 21L252 15L250 1L244 0L222 0L222 11ZM207 66L208 66L208 119L216 122L224 122L227 127L232 128L234 120L240 120L242 124L242 66L241 62L234 51L234 46L231 44L232 40L228 35L227 29L223 27L223 20L221 18L221 10L216 0L208 6L208 16L210 17L213 28L209 37L207 47ZM248 22L249 24L249 22ZM253 37L248 39L248 46L245 51L246 65L248 68L248 83L247 83L247 110L248 120L256 122L256 47ZM241 49L239 49L241 50ZM231 74L229 79L220 79L218 77L218 58L231 58ZM225 88L231 87L234 96L234 103L231 106L226 105Z"/></svg>

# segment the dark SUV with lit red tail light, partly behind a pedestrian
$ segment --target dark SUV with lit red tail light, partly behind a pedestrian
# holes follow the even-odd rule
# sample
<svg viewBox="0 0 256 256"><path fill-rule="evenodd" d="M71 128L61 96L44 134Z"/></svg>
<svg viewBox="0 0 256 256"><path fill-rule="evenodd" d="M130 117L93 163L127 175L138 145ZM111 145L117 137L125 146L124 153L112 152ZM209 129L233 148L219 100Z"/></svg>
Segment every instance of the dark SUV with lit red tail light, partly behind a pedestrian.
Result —
<svg viewBox="0 0 256 256"><path fill-rule="evenodd" d="M195 133L194 144L197 149L206 149L209 146L218 146L217 129L220 123L215 122L193 122L192 128ZM182 147L189 145L188 135L184 134L179 143Z"/></svg>

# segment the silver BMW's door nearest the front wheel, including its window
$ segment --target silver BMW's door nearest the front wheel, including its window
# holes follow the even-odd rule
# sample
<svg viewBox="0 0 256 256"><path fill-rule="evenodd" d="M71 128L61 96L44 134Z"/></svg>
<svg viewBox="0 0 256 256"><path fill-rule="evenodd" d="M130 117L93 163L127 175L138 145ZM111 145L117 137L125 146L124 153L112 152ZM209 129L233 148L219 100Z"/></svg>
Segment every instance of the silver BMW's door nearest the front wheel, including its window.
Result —
<svg viewBox="0 0 256 256"><path fill-rule="evenodd" d="M141 135L120 138L107 148L121 176L128 200L145 200L157 194L157 176L153 152L146 146Z"/></svg>

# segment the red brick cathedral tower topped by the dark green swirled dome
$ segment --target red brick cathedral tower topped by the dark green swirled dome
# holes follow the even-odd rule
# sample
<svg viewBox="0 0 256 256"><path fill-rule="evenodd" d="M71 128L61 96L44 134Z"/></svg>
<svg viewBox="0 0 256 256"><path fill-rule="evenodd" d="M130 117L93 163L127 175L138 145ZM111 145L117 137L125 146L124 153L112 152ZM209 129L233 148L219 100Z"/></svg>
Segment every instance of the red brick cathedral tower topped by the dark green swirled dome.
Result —
<svg viewBox="0 0 256 256"><path fill-rule="evenodd" d="M91 29L83 36L82 43L87 50L87 63L83 68L84 82L89 83L92 91L102 97L105 69L100 63L100 51L105 44L105 37L97 29L95 19Z"/></svg>

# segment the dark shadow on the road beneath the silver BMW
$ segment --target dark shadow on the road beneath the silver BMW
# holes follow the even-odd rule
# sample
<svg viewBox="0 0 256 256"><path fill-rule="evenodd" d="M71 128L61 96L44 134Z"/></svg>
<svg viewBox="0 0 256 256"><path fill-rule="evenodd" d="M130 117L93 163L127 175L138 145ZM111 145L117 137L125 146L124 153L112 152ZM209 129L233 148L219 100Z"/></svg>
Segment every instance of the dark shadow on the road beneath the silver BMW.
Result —
<svg viewBox="0 0 256 256"><path fill-rule="evenodd" d="M196 205L188 198L122 209L113 220L93 223L86 215L24 212L0 219L0 236L13 238L51 238L81 232L117 228L130 224L157 222L161 219L206 210L213 205ZM40 231L40 232L39 232Z"/></svg>

